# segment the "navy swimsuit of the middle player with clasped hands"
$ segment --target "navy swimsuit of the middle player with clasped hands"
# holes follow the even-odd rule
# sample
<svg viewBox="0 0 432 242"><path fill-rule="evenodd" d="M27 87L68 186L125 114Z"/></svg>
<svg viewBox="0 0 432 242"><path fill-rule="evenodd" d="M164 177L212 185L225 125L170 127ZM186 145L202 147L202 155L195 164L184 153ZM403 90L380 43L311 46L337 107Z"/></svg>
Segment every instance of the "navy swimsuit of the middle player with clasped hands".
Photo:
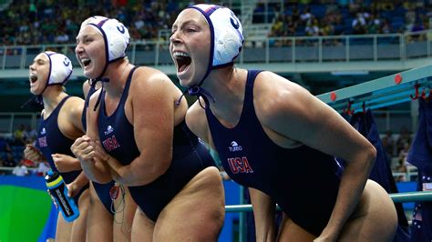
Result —
<svg viewBox="0 0 432 242"><path fill-rule="evenodd" d="M118 107L111 116L107 116L105 93L102 93L98 114L99 138L104 149L124 165L129 165L139 156L139 149L134 138L134 128L125 115L125 103L134 67L128 76ZM174 104L173 104L174 105ZM148 140L146 142L151 142ZM174 127L172 160L170 167L153 182L137 187L129 187L130 195L149 219L156 221L160 211L170 203L180 190L208 166L214 166L208 150L198 141L183 121Z"/></svg>

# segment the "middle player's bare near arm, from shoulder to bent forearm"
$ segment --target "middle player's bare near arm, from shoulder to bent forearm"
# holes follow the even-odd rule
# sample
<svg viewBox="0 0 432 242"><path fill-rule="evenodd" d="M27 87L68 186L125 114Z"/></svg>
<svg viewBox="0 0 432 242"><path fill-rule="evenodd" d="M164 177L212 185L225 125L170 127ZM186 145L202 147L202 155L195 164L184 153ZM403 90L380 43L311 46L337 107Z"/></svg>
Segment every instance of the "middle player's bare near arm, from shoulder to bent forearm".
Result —
<svg viewBox="0 0 432 242"><path fill-rule="evenodd" d="M168 76L157 73L146 76L144 81L140 71L141 68L134 76L138 80L132 81L125 107L134 126L140 155L127 166L112 156L106 156L113 178L128 186L142 186L154 181L167 171L172 159L174 102L178 89Z"/></svg>

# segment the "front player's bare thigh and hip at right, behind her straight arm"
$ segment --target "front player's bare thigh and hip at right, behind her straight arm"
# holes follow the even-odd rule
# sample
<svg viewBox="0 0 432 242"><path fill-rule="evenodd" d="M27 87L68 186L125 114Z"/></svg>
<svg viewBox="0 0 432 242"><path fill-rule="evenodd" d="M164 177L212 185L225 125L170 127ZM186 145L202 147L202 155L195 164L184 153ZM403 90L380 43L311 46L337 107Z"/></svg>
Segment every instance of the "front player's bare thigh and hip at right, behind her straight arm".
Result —
<svg viewBox="0 0 432 242"><path fill-rule="evenodd" d="M368 180L359 205L339 238L341 241L392 241L396 227L395 204L383 187Z"/></svg>

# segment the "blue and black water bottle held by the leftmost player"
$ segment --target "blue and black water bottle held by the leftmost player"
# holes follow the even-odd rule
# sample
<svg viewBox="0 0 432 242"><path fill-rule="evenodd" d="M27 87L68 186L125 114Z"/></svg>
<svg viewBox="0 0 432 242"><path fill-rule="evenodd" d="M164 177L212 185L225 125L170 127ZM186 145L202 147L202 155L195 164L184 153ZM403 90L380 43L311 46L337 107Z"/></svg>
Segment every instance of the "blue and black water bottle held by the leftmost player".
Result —
<svg viewBox="0 0 432 242"><path fill-rule="evenodd" d="M45 176L46 187L67 222L74 221L79 216L79 210L72 197L67 196L67 186L58 172L48 171Z"/></svg>

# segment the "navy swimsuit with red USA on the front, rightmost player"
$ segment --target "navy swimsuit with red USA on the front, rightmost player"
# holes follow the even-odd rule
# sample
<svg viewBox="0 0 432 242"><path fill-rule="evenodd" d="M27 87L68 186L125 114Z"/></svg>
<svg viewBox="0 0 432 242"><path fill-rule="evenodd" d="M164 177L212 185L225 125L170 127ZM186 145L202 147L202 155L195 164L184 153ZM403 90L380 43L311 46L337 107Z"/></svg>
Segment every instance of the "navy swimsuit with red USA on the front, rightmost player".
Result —
<svg viewBox="0 0 432 242"><path fill-rule="evenodd" d="M264 133L253 106L258 73L248 73L237 126L222 126L211 109L206 109L221 164L234 181L272 197L297 225L319 236L333 211L342 167L333 156L308 146L277 146Z"/></svg>

